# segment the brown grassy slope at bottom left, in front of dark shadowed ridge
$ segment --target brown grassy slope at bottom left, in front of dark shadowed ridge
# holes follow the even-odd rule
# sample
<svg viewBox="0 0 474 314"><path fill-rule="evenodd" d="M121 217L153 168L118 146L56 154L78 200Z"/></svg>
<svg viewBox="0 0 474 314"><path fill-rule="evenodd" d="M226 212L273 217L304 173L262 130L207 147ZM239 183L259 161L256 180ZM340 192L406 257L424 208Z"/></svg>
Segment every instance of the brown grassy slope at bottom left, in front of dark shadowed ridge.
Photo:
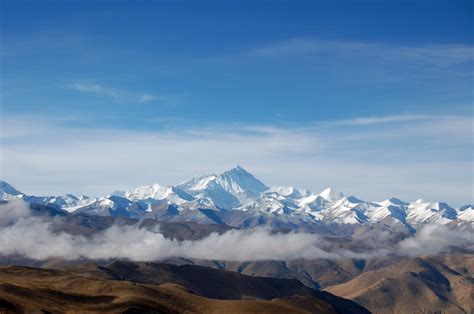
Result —
<svg viewBox="0 0 474 314"><path fill-rule="evenodd" d="M311 296L216 300L183 286L87 278L50 269L0 268L0 313L337 313Z"/></svg>

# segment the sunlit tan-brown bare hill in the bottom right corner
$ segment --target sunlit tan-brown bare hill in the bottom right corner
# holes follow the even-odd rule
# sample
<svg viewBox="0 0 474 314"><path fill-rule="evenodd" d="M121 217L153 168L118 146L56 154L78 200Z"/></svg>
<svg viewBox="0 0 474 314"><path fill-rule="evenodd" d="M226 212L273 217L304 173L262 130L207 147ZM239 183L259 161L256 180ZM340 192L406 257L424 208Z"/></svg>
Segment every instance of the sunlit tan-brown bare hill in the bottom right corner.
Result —
<svg viewBox="0 0 474 314"><path fill-rule="evenodd" d="M474 257L414 258L326 290L374 313L473 313Z"/></svg>

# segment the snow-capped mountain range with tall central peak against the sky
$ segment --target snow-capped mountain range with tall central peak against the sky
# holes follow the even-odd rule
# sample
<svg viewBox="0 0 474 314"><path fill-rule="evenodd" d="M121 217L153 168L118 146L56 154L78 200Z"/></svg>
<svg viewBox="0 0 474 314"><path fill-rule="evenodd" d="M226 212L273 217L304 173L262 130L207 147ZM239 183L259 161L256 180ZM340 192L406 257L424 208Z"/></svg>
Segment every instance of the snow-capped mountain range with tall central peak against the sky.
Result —
<svg viewBox="0 0 474 314"><path fill-rule="evenodd" d="M240 166L176 186L154 183L100 198L71 194L30 196L0 181L0 199L15 198L69 213L225 223L235 227L268 224L295 229L383 223L414 231L426 224L474 225L472 205L454 209L442 202L405 202L396 198L371 202L345 196L332 188L315 194L295 187L267 187Z"/></svg>

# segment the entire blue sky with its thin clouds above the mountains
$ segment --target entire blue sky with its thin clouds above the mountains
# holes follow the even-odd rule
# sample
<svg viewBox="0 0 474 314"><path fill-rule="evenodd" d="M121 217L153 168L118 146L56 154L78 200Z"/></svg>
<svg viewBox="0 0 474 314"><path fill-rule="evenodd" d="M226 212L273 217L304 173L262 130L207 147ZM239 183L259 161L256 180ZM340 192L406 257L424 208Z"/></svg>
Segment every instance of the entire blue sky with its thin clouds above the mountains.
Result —
<svg viewBox="0 0 474 314"><path fill-rule="evenodd" d="M267 184L473 201L472 1L1 5L2 177L19 189L242 164Z"/></svg>

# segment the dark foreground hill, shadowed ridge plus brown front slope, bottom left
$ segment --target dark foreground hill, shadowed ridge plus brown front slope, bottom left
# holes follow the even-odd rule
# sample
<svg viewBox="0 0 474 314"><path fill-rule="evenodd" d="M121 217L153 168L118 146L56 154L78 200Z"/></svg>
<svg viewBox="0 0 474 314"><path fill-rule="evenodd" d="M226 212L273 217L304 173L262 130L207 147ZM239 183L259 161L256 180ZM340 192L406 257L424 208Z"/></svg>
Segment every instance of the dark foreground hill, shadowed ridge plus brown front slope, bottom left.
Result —
<svg viewBox="0 0 474 314"><path fill-rule="evenodd" d="M205 267L191 268L132 263L105 267L91 265L69 272L2 267L0 311L368 313L352 301L305 288L295 280L249 277ZM152 284L149 283L151 278L154 279ZM142 283L144 281L148 283ZM176 281L182 284L176 284ZM219 298L205 297L203 291L204 294L206 291L214 292L213 296ZM216 292L219 295L215 295Z"/></svg>

